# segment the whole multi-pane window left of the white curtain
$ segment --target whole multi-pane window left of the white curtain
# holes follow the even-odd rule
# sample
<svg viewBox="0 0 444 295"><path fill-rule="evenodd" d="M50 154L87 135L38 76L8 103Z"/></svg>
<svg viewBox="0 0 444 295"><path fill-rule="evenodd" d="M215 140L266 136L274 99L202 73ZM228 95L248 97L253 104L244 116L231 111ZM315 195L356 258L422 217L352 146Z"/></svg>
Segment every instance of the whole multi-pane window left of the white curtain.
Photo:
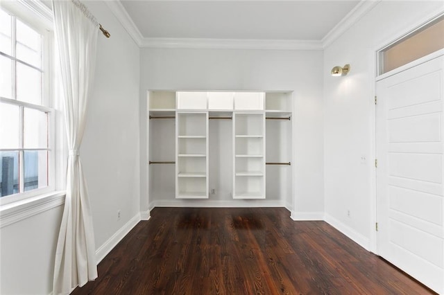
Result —
<svg viewBox="0 0 444 295"><path fill-rule="evenodd" d="M53 109L44 87L44 42L44 33L0 10L2 204L44 193L53 186Z"/></svg>

